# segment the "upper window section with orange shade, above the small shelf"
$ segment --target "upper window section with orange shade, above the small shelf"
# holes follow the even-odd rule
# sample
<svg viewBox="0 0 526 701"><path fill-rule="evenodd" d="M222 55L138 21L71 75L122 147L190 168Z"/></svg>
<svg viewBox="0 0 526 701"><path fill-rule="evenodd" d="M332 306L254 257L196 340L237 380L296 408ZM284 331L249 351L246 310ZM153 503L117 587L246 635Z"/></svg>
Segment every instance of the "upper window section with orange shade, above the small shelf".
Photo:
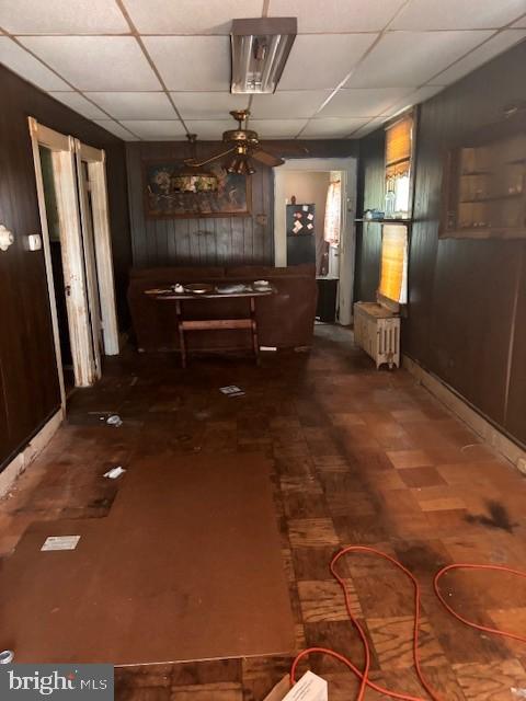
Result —
<svg viewBox="0 0 526 701"><path fill-rule="evenodd" d="M386 128L386 219L403 219L410 216L412 151L411 113Z"/></svg>

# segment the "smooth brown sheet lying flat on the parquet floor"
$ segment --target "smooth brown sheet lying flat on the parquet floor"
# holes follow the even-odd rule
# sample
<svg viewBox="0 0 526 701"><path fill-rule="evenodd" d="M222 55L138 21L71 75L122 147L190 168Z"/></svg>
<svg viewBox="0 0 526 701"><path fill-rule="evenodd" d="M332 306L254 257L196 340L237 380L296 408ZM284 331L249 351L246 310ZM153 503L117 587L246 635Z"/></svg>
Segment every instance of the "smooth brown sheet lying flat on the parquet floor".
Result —
<svg viewBox="0 0 526 701"><path fill-rule="evenodd" d="M268 460L161 455L121 480L107 518L34 524L4 563L0 620L16 660L290 653ZM73 551L41 552L57 535L81 539Z"/></svg>

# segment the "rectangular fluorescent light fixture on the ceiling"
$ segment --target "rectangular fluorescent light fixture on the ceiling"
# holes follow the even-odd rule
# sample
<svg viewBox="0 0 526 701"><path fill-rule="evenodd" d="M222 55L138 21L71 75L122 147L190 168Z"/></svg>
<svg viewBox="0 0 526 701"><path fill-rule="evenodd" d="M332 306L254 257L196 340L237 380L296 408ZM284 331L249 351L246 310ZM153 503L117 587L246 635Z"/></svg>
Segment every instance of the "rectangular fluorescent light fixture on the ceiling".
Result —
<svg viewBox="0 0 526 701"><path fill-rule="evenodd" d="M233 20L230 92L275 92L297 32L296 18Z"/></svg>

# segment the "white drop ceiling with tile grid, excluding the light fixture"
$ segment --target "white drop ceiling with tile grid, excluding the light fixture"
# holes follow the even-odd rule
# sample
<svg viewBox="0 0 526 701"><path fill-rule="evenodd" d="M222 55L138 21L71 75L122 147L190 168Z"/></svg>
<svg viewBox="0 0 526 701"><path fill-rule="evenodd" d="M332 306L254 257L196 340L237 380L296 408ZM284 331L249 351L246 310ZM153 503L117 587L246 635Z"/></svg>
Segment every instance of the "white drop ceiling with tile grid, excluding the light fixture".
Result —
<svg viewBox="0 0 526 701"><path fill-rule="evenodd" d="M273 95L231 95L233 18L296 16ZM1 0L0 61L125 140L356 138L526 37L526 0Z"/></svg>

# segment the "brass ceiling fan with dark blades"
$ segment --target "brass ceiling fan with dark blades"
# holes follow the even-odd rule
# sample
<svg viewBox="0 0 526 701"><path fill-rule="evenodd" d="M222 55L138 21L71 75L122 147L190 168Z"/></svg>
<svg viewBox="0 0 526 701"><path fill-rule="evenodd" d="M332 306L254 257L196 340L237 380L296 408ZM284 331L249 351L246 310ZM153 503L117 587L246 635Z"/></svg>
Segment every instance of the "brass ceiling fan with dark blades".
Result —
<svg viewBox="0 0 526 701"><path fill-rule="evenodd" d="M184 160L186 166L202 168L203 165L218 161L226 156L231 156L231 158L224 164L227 173L252 175L252 173L255 173L255 168L253 166L252 161L259 161L270 168L276 168L277 165L283 165L285 163L282 158L270 152L273 147L266 146L266 148L263 149L261 147L258 133L248 128L248 120L250 116L249 110L233 110L230 114L238 123L238 128L229 129L224 133L222 141L228 146L227 150L216 153L204 161L197 161L195 156L187 158ZM190 140L195 142L195 137ZM286 149L282 149L282 152L283 150L286 150L287 152L298 152L298 147L288 147ZM308 153L308 150L305 147L299 147L299 151Z"/></svg>

